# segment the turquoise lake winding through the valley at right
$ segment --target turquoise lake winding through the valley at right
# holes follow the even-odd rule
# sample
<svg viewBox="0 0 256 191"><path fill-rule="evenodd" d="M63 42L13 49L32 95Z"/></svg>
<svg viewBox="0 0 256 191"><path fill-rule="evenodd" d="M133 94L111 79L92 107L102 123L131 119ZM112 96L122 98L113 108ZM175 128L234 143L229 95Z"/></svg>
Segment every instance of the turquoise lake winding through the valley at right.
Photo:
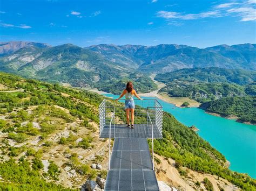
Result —
<svg viewBox="0 0 256 191"><path fill-rule="evenodd" d="M103 94L117 98L118 95ZM144 97L155 98L155 97ZM177 108L174 104L157 99L163 110L170 112L179 122L195 125L198 135L225 155L230 169L256 178L256 126L235 122L206 114L198 108Z"/></svg>

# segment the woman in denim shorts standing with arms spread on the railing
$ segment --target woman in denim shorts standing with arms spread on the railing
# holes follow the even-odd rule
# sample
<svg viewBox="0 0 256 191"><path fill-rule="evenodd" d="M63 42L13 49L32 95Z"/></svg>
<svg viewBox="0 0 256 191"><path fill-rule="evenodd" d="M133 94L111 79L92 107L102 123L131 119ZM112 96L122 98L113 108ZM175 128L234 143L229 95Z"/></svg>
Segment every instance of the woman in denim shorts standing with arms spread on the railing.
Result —
<svg viewBox="0 0 256 191"><path fill-rule="evenodd" d="M140 98L138 96L138 94L136 93L136 91L133 89L132 82L128 82L126 84L125 90L117 98L117 100L122 98L124 95L125 95L125 111L126 111L127 127L130 127L129 115L130 115L130 111L131 111L131 119L132 119L131 128L134 129L134 108L135 108L135 105L134 105L133 96L136 96L139 100L142 100L142 98Z"/></svg>

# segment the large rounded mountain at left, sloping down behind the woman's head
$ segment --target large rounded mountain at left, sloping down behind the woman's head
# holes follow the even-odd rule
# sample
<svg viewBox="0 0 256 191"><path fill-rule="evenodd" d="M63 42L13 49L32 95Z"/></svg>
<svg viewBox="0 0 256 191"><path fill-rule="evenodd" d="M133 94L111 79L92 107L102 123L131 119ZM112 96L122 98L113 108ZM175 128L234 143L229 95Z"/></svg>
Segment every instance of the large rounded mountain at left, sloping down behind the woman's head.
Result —
<svg viewBox="0 0 256 191"><path fill-rule="evenodd" d="M111 62L102 55L75 45L24 47L0 58L0 70L49 82L68 83L73 87L109 89L113 83L129 80L138 83L142 93L156 89L149 76ZM143 78L143 79L140 79Z"/></svg>

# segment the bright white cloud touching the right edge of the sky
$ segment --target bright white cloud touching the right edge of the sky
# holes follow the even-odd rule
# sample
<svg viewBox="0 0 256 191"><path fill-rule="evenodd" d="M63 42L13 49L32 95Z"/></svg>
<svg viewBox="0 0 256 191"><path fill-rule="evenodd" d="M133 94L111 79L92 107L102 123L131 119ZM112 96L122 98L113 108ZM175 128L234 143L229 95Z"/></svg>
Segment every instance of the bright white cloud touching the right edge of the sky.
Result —
<svg viewBox="0 0 256 191"><path fill-rule="evenodd" d="M228 13L236 13L241 17L242 22L256 20L256 9L251 7L233 8L228 9Z"/></svg>

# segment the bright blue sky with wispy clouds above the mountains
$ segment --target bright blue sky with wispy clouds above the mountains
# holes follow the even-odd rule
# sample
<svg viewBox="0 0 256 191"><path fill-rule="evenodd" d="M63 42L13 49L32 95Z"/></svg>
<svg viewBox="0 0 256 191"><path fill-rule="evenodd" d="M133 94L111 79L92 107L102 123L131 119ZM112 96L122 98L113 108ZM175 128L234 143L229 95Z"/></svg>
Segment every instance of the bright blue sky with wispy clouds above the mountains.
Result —
<svg viewBox="0 0 256 191"><path fill-rule="evenodd" d="M256 43L256 0L1 0L0 41L53 46Z"/></svg>

